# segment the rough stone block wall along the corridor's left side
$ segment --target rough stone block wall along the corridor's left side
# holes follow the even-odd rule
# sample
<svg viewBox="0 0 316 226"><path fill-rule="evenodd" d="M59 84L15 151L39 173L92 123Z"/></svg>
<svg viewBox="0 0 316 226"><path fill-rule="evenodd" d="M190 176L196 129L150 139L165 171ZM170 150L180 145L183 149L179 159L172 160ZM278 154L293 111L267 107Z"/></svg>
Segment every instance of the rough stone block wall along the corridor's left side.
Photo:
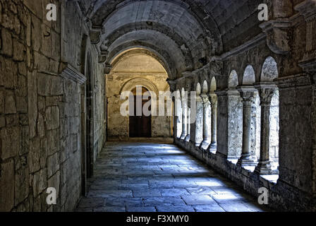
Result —
<svg viewBox="0 0 316 226"><path fill-rule="evenodd" d="M61 1L52 2L56 22L46 20L51 1L0 1L1 211L73 210L81 194L80 85L59 70L80 47L67 49L68 59L61 54ZM67 18L83 20L72 10ZM81 30L80 23L71 27ZM78 34L69 33L63 47L80 40ZM69 62L78 68L75 59ZM97 122L103 121L99 111ZM98 133L101 146L104 131ZM56 206L46 203L48 187L56 188Z"/></svg>

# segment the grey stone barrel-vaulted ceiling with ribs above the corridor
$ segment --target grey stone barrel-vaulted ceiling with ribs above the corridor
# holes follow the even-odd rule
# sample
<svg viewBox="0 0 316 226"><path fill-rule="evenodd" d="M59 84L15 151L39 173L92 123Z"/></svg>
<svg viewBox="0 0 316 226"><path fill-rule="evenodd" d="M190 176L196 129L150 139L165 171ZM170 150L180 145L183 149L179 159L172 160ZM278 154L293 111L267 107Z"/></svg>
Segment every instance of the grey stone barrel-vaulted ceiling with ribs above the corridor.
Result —
<svg viewBox="0 0 316 226"><path fill-rule="evenodd" d="M108 64L128 48L143 47L168 64L171 78L179 78L183 71L193 71L257 35L258 4L258 0L91 0L86 12L92 28L101 31L99 47L107 52ZM239 26L245 20L248 27Z"/></svg>

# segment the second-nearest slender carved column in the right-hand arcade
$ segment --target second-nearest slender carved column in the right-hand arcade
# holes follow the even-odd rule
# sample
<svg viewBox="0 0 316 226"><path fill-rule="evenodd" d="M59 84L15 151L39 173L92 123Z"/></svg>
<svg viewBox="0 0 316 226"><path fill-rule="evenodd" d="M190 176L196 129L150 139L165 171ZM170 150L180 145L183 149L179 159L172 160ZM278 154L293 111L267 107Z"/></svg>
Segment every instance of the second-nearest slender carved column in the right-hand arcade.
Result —
<svg viewBox="0 0 316 226"><path fill-rule="evenodd" d="M255 88L253 86L242 86L238 88L243 98L243 149L237 165L256 165L251 155L251 108L254 103Z"/></svg>

